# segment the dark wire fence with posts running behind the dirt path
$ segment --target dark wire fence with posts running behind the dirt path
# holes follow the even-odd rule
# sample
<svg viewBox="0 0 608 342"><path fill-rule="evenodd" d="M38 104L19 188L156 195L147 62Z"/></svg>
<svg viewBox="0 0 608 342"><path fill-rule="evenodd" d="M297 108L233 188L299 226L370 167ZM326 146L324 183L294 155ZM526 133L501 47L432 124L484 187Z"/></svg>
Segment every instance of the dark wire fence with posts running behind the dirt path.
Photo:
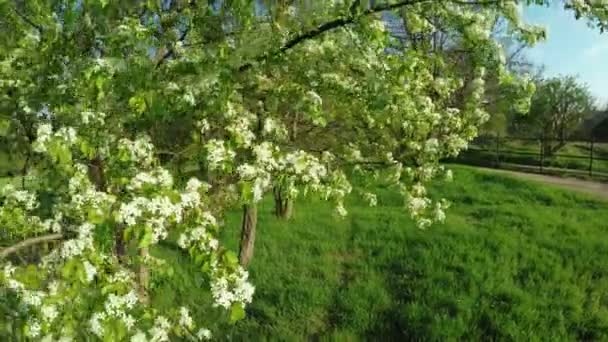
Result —
<svg viewBox="0 0 608 342"><path fill-rule="evenodd" d="M458 162L608 180L608 141L485 135Z"/></svg>

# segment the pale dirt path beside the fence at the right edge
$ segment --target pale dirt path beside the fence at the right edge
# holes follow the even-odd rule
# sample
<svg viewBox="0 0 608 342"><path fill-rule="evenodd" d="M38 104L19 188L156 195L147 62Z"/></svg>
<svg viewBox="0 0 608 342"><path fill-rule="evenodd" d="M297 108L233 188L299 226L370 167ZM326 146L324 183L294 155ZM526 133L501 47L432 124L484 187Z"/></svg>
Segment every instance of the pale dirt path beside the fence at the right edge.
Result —
<svg viewBox="0 0 608 342"><path fill-rule="evenodd" d="M577 178L569 177L556 177L539 175L535 173L518 172L511 170L499 170L490 168L480 168L488 172L501 173L506 175L513 175L520 178L529 179L536 182L542 182L545 184L555 185L564 189L574 190L578 192L585 192L602 199L608 200L608 183L600 183L593 181L586 181Z"/></svg>

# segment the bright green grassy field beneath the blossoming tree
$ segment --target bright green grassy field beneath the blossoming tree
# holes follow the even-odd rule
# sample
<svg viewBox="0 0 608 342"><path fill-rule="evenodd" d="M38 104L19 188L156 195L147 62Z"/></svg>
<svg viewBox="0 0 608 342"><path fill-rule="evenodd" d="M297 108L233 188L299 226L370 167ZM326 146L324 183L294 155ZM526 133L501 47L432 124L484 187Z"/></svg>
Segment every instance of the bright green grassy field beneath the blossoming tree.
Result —
<svg viewBox="0 0 608 342"><path fill-rule="evenodd" d="M434 189L454 202L447 222L426 231L386 189L376 208L351 199L343 220L301 200L282 222L265 201L248 317L198 317L235 340L608 339L608 204L466 167L455 179ZM238 222L224 231L233 250ZM180 279L158 281L157 300L208 302L186 258L155 253Z"/></svg>

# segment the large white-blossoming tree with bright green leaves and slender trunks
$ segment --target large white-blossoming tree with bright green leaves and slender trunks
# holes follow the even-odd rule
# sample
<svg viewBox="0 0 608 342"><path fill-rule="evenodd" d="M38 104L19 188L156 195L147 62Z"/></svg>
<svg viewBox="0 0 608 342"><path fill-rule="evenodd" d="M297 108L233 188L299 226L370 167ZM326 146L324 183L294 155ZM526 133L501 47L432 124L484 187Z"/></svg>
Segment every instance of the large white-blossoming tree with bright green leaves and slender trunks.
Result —
<svg viewBox="0 0 608 342"><path fill-rule="evenodd" d="M521 111L533 91L505 70L489 34L504 17L517 39L542 36L518 3L0 0L0 106L38 123L35 180L4 188L0 207L15 240L0 251L0 295L27 318L16 331L210 338L192 308L151 304L162 270L151 248L174 241L205 274L213 305L242 318L255 205L273 188L286 199L317 193L346 215L351 171L386 176L421 228L442 221L446 203L425 184L450 177L439 160L487 120L485 80L510 89ZM567 7L608 24L602 1ZM386 11L407 21L415 46L388 34ZM424 47L436 32L449 48ZM240 258L218 240L222 213L236 206ZM60 243L37 265L4 262L51 240Z"/></svg>

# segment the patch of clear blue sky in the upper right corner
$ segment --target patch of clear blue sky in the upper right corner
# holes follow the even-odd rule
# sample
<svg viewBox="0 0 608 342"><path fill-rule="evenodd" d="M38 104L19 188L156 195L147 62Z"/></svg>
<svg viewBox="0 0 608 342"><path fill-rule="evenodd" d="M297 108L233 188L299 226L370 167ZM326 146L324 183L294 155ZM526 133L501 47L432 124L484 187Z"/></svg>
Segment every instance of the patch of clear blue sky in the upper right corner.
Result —
<svg viewBox="0 0 608 342"><path fill-rule="evenodd" d="M578 75L600 103L608 103L608 33L600 34L557 4L527 7L524 19L547 30L547 40L529 49L527 56L545 65L547 76Z"/></svg>

